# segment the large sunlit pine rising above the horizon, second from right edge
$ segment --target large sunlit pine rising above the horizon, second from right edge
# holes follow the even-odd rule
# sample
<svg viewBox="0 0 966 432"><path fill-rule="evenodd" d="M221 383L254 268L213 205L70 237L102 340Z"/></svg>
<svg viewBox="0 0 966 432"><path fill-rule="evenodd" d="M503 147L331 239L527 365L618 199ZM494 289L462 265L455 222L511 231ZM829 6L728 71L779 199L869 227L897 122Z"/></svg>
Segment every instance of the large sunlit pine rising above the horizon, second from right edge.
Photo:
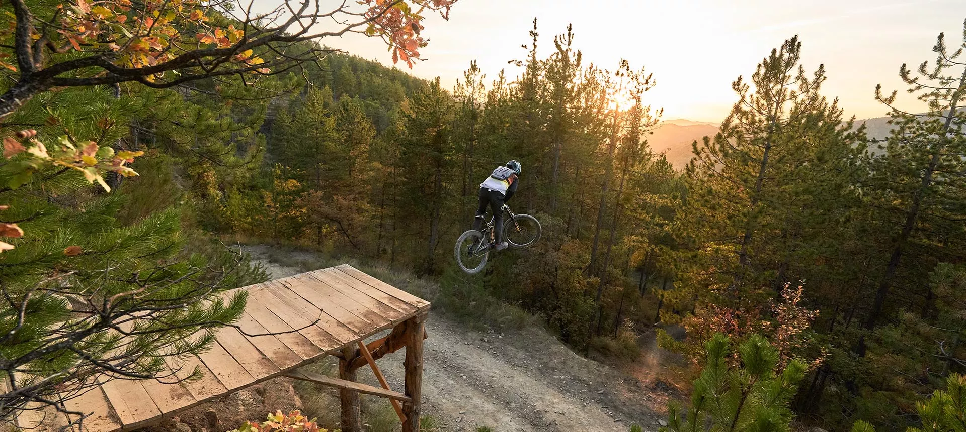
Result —
<svg viewBox="0 0 966 432"><path fill-rule="evenodd" d="M849 190L839 172L863 137L819 93L823 67L808 76L800 60L797 38L772 50L753 88L742 78L732 85L740 100L721 132L695 143L675 224L688 268L684 289L668 297L679 310L697 301L752 322L781 286L812 275L812 246L828 243L825 218L840 215L841 202L811 194Z"/></svg>

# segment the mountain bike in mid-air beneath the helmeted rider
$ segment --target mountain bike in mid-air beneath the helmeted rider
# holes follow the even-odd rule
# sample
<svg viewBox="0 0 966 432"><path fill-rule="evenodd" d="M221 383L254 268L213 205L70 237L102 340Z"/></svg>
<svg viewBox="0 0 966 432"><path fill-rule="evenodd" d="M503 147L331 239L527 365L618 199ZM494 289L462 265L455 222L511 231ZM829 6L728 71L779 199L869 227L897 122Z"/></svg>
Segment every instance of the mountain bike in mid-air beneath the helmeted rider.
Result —
<svg viewBox="0 0 966 432"><path fill-rule="evenodd" d="M509 215L503 223L502 238L511 248L526 249L540 239L542 228L537 218L528 214L514 214L506 204L500 210ZM495 217L491 217L486 227L480 230L469 229L456 239L456 247L453 249L456 263L470 275L483 271L490 251L495 247L494 219ZM488 241L483 241L484 239Z"/></svg>

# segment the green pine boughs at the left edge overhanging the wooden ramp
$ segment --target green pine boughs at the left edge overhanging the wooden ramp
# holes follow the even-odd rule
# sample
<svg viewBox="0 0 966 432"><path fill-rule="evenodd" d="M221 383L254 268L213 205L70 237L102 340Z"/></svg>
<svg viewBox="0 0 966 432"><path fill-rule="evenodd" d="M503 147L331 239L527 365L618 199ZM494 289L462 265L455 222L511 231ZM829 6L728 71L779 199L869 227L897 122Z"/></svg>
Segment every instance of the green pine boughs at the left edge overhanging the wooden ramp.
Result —
<svg viewBox="0 0 966 432"><path fill-rule="evenodd" d="M44 124L38 136L69 131L62 143L88 146L81 143L124 137L130 108L110 91L70 89L41 94L8 119ZM19 175L25 157L0 163L3 184ZM3 418L55 393L83 392L101 372L145 378L166 370L165 359L198 353L211 342L199 337L203 330L243 311L243 293L220 294L265 278L243 262L185 255L177 209L121 223L125 196L99 193L75 170L40 167L23 185L0 190L0 200L15 203L2 218L27 233L0 255L8 299L0 308L0 356L5 376L17 372L0 394Z"/></svg>

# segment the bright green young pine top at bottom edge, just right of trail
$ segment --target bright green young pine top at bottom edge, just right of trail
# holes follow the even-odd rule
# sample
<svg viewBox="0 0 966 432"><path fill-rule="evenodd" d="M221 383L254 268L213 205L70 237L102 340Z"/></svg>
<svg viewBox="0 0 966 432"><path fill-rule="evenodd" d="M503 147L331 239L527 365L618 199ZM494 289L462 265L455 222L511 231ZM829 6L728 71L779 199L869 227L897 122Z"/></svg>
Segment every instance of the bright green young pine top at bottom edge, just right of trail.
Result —
<svg viewBox="0 0 966 432"><path fill-rule="evenodd" d="M779 351L768 340L753 336L730 351L728 339L715 335L705 344L706 361L695 381L691 407L681 416L668 407L662 432L707 430L788 431L793 415L788 405L805 376L806 365L792 361L779 367ZM735 358L737 354L737 358ZM733 363L739 365L733 365Z"/></svg>

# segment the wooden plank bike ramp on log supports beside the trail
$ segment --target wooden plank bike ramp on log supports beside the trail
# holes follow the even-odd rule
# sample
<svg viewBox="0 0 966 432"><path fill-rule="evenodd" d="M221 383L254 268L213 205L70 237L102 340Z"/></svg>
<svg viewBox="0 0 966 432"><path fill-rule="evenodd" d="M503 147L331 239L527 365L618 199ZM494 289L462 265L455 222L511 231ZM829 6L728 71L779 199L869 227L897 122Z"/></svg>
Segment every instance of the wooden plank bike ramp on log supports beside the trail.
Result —
<svg viewBox="0 0 966 432"><path fill-rule="evenodd" d="M290 376L332 385L347 392L379 394L394 402L401 400L410 408L411 417L414 414L418 418L419 404L413 404L410 397L416 396L414 398L418 400L418 384L414 390L410 389L412 379L409 376L408 394L402 394L334 378L316 376L317 379L313 379L295 369L336 355L341 362L352 365L348 370L355 370L367 364L362 354L367 358L375 354L378 359L407 346L403 338L383 338L369 343L368 347L360 341L387 329L394 329L392 335L401 335L403 332L397 330L409 328L419 332L416 363L417 377L421 379L422 338L425 338L422 320L429 310L429 302L348 264L238 289L248 291L245 312L237 324L241 332L234 327L217 331L212 349L189 359L178 372L178 376L185 377L198 366L204 372L202 379L174 384L157 379L102 379L98 387L65 402L66 408L93 413L83 422L87 431L128 431L271 378ZM417 325L408 325L412 323ZM275 335L249 337L242 332ZM355 346L359 347L357 354L351 351ZM408 346L407 369L412 363L411 350ZM375 363L371 365L377 369ZM355 372L351 377L355 378ZM161 381L170 383L174 380ZM411 392L415 394L409 394ZM357 399L357 395L355 397ZM17 419L18 425L24 429L56 430L67 423L63 415L52 415L50 411L45 414L25 412ZM404 418L402 413L400 418Z"/></svg>

